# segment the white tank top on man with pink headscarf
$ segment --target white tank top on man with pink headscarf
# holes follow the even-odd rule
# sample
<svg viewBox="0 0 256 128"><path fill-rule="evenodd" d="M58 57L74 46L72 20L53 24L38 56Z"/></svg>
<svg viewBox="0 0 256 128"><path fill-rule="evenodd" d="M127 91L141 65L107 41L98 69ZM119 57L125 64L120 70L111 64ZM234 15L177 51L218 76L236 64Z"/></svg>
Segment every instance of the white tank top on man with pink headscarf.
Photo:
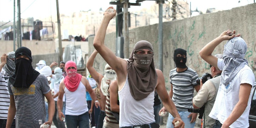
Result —
<svg viewBox="0 0 256 128"><path fill-rule="evenodd" d="M82 115L88 112L86 102L86 88L80 81L75 91L64 89L66 95L66 115Z"/></svg>

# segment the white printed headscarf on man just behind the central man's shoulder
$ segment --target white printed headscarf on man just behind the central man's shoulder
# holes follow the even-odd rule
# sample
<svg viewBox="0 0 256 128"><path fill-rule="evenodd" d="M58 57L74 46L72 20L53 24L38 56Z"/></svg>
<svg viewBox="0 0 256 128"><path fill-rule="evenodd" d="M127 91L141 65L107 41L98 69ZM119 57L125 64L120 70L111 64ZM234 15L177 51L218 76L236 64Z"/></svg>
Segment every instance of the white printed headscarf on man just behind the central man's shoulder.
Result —
<svg viewBox="0 0 256 128"><path fill-rule="evenodd" d="M109 64L105 65L105 68L104 68L105 75L101 80L100 89L101 89L101 92L104 96L107 95L108 87L109 87L109 85L106 83L106 81L107 80L112 81L116 78L116 72L113 69L107 70L107 68L109 68L109 67L110 67Z"/></svg>

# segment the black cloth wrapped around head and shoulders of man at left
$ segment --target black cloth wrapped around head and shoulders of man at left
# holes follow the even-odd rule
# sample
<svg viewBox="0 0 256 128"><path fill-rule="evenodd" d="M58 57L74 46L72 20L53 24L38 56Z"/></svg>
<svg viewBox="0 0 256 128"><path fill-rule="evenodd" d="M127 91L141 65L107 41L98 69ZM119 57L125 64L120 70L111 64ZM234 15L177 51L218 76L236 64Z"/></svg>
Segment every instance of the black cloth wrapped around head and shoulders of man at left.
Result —
<svg viewBox="0 0 256 128"><path fill-rule="evenodd" d="M25 58L17 57L24 55L29 58L29 60ZM29 88L30 85L37 79L40 74L38 71L35 71L31 65L32 56L31 51L27 47L19 47L15 52L15 73L10 76L10 83L17 88Z"/></svg>

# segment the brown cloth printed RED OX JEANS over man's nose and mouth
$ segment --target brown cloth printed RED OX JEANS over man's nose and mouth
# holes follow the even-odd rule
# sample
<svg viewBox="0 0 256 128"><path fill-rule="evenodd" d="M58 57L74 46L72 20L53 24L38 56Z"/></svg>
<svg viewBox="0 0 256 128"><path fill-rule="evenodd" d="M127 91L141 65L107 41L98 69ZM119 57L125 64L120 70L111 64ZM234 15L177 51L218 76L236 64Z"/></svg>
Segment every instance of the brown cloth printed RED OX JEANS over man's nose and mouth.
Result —
<svg viewBox="0 0 256 128"><path fill-rule="evenodd" d="M134 66L143 72L147 71L152 62L153 55L154 53L143 55L134 53L132 57L134 59Z"/></svg>

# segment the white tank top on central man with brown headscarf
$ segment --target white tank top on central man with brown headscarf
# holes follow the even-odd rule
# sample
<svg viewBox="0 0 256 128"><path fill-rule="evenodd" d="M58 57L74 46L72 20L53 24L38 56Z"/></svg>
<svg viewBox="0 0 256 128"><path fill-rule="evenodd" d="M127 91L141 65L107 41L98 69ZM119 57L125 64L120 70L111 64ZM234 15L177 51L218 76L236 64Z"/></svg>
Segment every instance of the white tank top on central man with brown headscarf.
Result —
<svg viewBox="0 0 256 128"><path fill-rule="evenodd" d="M118 91L120 118L119 127L143 125L155 122L154 91L142 100L135 100L130 93L128 79L124 87Z"/></svg>

